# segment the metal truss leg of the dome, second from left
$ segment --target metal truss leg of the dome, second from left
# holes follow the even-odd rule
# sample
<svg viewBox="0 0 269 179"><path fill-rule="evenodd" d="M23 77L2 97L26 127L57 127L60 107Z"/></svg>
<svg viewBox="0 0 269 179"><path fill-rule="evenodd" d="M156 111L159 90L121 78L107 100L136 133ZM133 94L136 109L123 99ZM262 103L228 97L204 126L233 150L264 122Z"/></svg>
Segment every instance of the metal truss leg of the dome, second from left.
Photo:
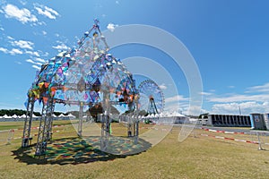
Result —
<svg viewBox="0 0 269 179"><path fill-rule="evenodd" d="M51 125L53 119L55 104L53 98L48 97L48 101L43 102L42 116L39 124L39 136L36 146L36 156L45 155L47 149L47 142L52 138Z"/></svg>

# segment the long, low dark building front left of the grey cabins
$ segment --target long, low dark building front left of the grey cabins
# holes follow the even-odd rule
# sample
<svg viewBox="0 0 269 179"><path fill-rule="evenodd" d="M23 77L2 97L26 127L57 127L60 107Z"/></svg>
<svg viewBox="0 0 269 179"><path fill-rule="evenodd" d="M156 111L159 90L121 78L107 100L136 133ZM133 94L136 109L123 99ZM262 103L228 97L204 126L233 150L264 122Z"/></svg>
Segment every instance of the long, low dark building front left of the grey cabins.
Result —
<svg viewBox="0 0 269 179"><path fill-rule="evenodd" d="M221 127L251 127L249 115L208 115L208 124Z"/></svg>

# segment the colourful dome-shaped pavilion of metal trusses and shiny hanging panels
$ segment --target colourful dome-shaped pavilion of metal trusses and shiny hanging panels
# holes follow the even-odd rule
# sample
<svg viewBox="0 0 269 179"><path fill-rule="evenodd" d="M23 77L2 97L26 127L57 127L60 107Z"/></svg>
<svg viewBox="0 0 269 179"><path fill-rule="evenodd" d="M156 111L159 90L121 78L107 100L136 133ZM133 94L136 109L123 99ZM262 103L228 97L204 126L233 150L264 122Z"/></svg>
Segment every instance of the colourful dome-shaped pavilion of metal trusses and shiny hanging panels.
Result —
<svg viewBox="0 0 269 179"><path fill-rule="evenodd" d="M102 36L99 21L84 33L77 49L61 52L41 66L28 91L27 111L22 136L22 147L30 140L31 119L35 101L43 104L39 124L36 155L43 155L51 128L56 103L80 107L78 134L82 134L82 108L102 106L109 114L111 106L124 105L134 111L138 91L126 66L108 54L106 39Z"/></svg>

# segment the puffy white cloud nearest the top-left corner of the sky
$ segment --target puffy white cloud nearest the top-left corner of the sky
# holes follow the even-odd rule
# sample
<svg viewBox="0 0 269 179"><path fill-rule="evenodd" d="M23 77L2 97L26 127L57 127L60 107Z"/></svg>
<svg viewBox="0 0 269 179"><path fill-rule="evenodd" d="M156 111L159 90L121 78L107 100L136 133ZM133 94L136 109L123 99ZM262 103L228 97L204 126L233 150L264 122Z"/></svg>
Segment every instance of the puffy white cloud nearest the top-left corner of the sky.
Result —
<svg viewBox="0 0 269 179"><path fill-rule="evenodd" d="M23 24L27 22L36 22L38 21L37 17L30 13L28 9L22 8L19 9L13 4L6 4L3 7L4 16L6 18L14 18L18 21L21 21Z"/></svg>

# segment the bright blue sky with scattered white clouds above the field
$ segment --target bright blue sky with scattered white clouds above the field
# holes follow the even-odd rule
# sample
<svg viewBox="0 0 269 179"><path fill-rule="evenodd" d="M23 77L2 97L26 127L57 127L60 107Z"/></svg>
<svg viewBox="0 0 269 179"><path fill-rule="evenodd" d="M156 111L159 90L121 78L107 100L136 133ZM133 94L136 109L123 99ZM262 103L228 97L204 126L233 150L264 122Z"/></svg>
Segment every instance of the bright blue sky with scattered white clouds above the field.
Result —
<svg viewBox="0 0 269 179"><path fill-rule="evenodd" d="M0 108L23 108L40 64L74 47L98 18L101 30L109 23L116 30L117 25L146 24L181 40L201 73L203 112L239 114L239 107L245 115L269 112L268 5L262 0L0 0ZM121 59L144 56L160 64L169 59L139 45L117 47L111 53ZM162 65L178 88L176 94L167 81L153 79L163 89L167 110L187 111L184 73L172 63Z"/></svg>

